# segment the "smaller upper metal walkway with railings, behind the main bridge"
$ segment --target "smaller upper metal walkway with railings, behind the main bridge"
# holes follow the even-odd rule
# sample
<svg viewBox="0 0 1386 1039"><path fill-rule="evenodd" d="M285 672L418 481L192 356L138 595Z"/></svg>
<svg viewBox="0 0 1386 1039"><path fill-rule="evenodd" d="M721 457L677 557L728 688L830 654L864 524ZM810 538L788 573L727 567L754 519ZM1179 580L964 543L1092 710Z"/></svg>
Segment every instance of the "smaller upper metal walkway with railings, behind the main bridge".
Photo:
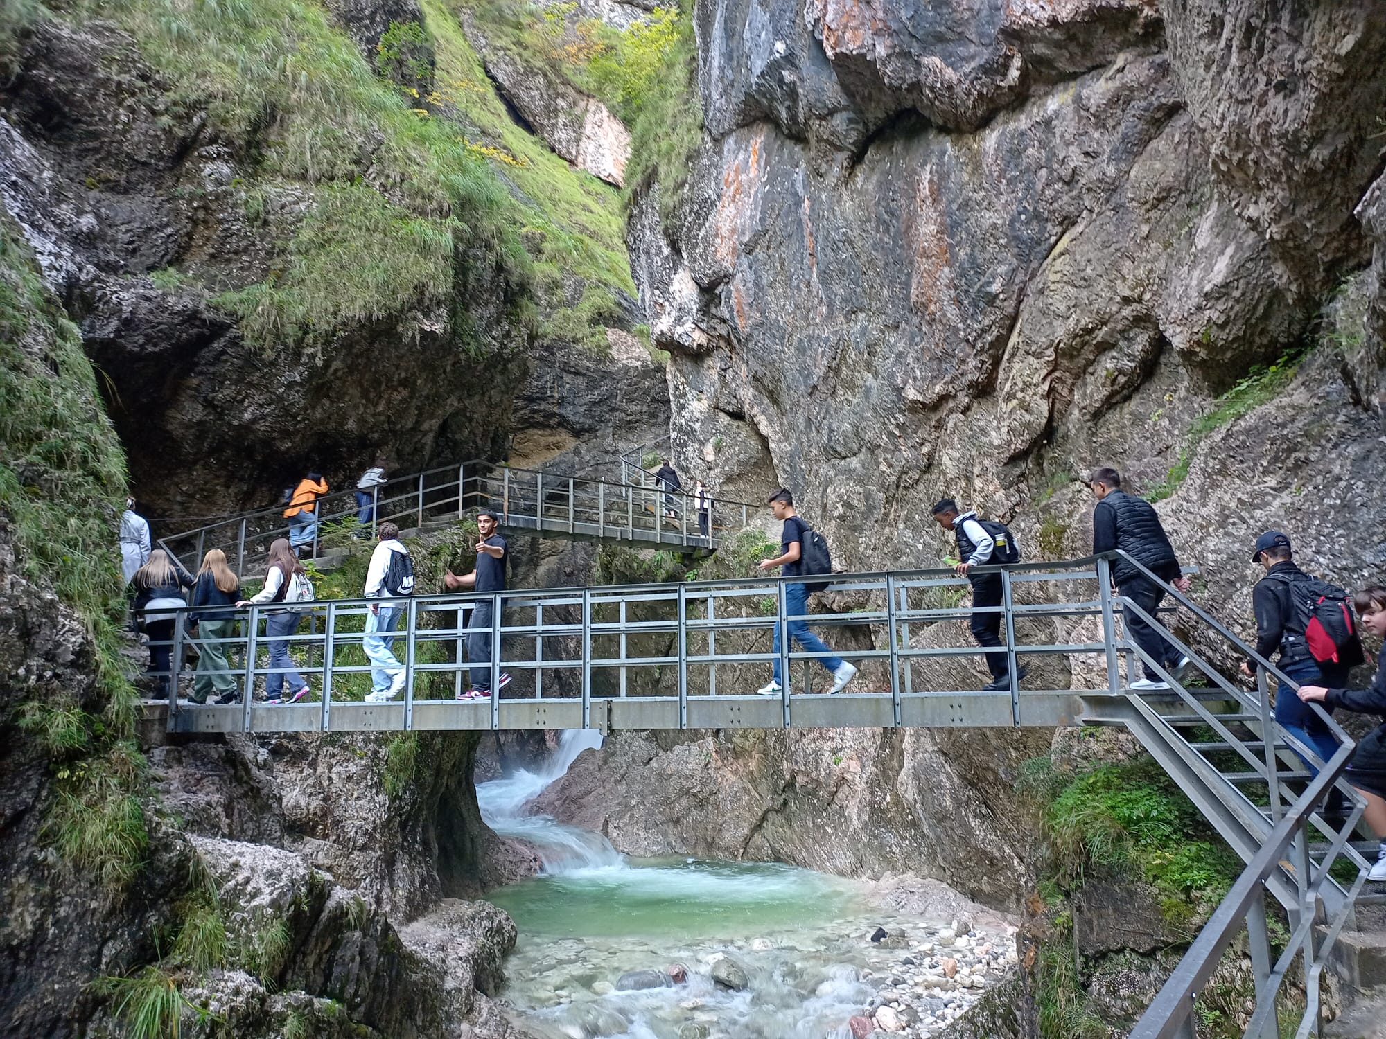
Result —
<svg viewBox="0 0 1386 1039"><path fill-rule="evenodd" d="M715 551L764 506L687 490L667 490L639 465L621 459L620 481L557 475L489 461L464 461L398 477L371 489L367 522L358 522L355 489L323 495L305 557L340 547L352 535L376 536L384 521L423 531L456 522L473 510L500 515L503 533L532 531L545 538L631 543L693 554ZM287 506L219 517L202 526L158 539L158 546L197 571L204 553L220 549L238 576L263 565L270 542L294 532Z"/></svg>

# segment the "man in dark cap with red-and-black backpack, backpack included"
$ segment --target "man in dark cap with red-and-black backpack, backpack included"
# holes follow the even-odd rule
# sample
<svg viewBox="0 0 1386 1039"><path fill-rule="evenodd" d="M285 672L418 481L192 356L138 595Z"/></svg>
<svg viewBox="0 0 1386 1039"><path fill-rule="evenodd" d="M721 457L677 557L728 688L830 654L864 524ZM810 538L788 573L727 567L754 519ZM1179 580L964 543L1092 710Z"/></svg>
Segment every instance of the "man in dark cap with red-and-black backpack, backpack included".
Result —
<svg viewBox="0 0 1386 1039"><path fill-rule="evenodd" d="M1347 686L1347 672L1362 662L1349 594L1306 574L1293 561L1290 539L1281 531L1267 531L1256 539L1252 562L1265 568L1265 576L1252 589L1256 614L1256 652L1265 659L1279 651L1277 666L1299 686ZM1256 675L1256 661L1242 662L1242 673ZM1325 704L1332 712L1332 705ZM1314 711L1290 690L1277 693L1275 720L1300 743L1328 761L1337 740ZM1308 761L1311 772L1317 772Z"/></svg>

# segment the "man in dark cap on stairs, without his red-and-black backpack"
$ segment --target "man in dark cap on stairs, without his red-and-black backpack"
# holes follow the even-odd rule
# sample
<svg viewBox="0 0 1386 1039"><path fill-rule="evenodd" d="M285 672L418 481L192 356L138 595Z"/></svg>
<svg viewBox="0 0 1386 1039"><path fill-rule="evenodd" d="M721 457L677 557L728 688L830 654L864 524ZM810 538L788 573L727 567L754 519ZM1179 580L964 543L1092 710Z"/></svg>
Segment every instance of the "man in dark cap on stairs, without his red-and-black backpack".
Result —
<svg viewBox="0 0 1386 1039"><path fill-rule="evenodd" d="M1308 641L1293 603L1295 586L1315 580L1292 561L1290 539L1282 531L1267 531L1256 539L1252 562L1265 568L1265 576L1252 589L1252 611L1256 614L1256 652L1265 659L1279 650L1277 666L1300 686L1347 686L1347 669L1333 664L1319 664L1308 651ZM1256 661L1242 661L1242 673L1256 675ZM1332 711L1326 704L1326 711ZM1328 761L1337 749L1337 740L1324 720L1285 690L1275 697L1275 720L1295 738L1314 748ZM1306 762L1307 765L1308 762ZM1313 770L1313 766L1310 766Z"/></svg>

